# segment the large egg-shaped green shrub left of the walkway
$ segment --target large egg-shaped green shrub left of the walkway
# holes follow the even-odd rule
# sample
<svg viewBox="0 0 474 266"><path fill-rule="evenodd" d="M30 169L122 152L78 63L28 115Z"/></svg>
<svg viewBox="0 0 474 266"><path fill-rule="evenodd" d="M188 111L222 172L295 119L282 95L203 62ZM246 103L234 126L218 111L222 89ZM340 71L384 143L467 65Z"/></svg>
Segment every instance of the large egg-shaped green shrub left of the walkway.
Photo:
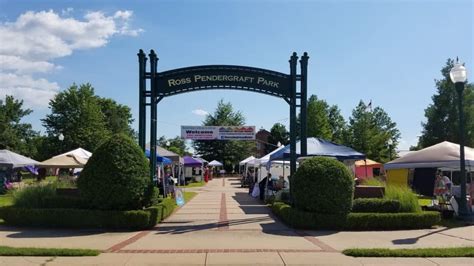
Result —
<svg viewBox="0 0 474 266"><path fill-rule="evenodd" d="M140 147L125 135L114 135L89 158L77 180L80 194L91 208L140 209L150 188L148 161Z"/></svg>

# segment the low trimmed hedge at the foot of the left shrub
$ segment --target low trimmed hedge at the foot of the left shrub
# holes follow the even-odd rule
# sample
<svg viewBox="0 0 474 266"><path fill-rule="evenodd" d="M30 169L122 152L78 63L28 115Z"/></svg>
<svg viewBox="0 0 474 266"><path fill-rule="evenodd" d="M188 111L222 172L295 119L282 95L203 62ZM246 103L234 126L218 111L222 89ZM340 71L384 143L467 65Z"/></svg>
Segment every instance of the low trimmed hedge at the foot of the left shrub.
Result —
<svg viewBox="0 0 474 266"><path fill-rule="evenodd" d="M59 206L53 201L61 196L50 198L49 206ZM7 224L19 226L63 227L63 228L107 228L141 230L151 228L168 217L176 208L173 199L166 198L160 204L144 210L104 211L73 209L78 202L72 197L64 197L61 203L68 208L29 209L8 206L0 208L0 218ZM81 203L82 204L82 203Z"/></svg>

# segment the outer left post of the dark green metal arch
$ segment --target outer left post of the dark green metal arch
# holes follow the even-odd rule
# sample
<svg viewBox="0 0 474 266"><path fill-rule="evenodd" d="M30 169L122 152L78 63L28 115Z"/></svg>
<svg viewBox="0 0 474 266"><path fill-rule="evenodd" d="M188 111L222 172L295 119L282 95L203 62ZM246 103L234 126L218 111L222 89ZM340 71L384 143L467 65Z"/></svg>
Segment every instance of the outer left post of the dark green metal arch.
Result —
<svg viewBox="0 0 474 266"><path fill-rule="evenodd" d="M142 49L138 52L138 145L145 151L146 142L146 54Z"/></svg>

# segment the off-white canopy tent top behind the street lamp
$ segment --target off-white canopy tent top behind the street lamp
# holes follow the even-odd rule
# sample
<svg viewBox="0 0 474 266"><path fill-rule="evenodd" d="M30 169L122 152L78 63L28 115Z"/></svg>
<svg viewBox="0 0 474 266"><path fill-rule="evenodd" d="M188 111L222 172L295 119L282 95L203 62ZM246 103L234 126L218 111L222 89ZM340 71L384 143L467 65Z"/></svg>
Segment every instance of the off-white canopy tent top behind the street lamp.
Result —
<svg viewBox="0 0 474 266"><path fill-rule="evenodd" d="M474 170L474 149L464 147L466 170ZM410 168L460 169L459 144L443 141L436 145L411 152L384 165L385 170Z"/></svg>

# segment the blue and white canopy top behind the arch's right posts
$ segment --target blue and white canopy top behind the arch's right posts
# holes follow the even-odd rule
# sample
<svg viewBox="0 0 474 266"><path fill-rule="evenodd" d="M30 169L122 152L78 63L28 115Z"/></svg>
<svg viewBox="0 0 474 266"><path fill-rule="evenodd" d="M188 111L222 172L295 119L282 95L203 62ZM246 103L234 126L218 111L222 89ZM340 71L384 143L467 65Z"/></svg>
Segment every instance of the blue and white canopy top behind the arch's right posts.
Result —
<svg viewBox="0 0 474 266"><path fill-rule="evenodd" d="M363 160L365 154L360 153L352 148L339 145L320 138L308 138L308 154L307 156L326 156L333 157L337 160ZM301 142L296 143L296 157L301 157ZM270 161L290 159L290 145L270 155Z"/></svg>

